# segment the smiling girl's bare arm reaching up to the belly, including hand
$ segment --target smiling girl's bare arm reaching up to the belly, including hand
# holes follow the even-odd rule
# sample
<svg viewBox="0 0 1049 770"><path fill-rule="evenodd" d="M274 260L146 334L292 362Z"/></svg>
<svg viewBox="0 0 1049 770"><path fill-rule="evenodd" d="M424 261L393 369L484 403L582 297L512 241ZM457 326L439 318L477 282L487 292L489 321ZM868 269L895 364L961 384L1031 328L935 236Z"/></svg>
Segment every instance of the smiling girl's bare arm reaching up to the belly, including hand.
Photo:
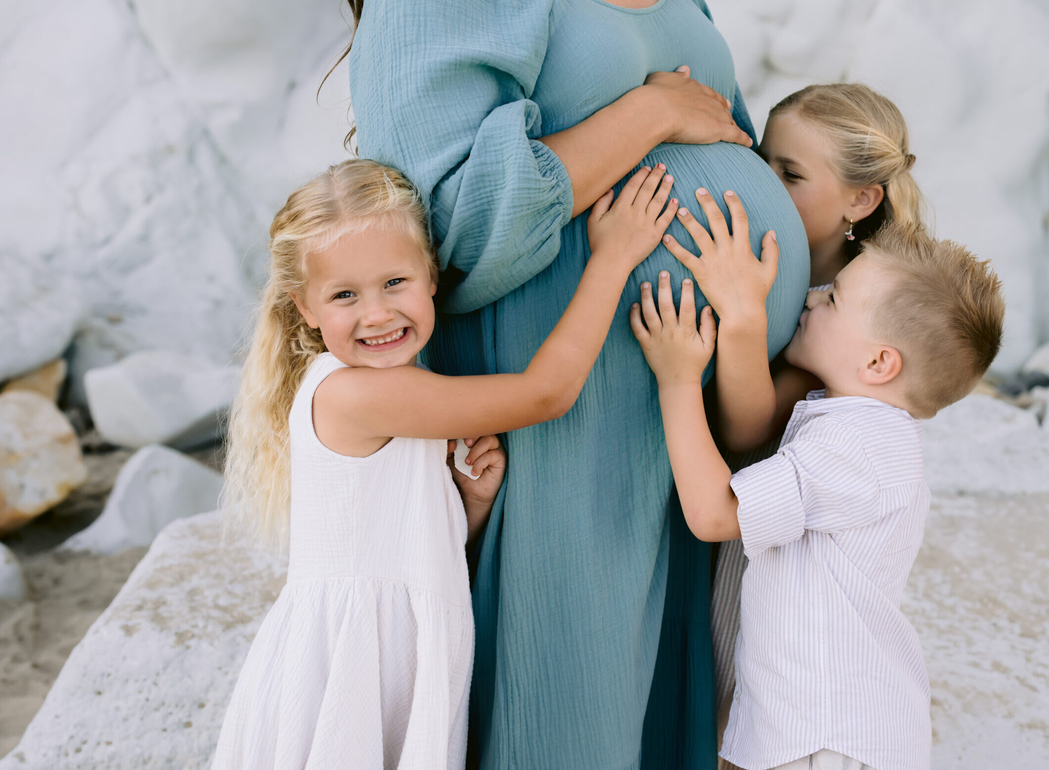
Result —
<svg viewBox="0 0 1049 770"><path fill-rule="evenodd" d="M660 179L662 178L662 184ZM486 435L564 414L575 403L608 333L626 279L659 243L677 212L661 213L672 179L638 172L590 217L591 259L561 320L528 368L516 375L444 377L411 366L345 368L317 388L316 413L356 437Z"/></svg>

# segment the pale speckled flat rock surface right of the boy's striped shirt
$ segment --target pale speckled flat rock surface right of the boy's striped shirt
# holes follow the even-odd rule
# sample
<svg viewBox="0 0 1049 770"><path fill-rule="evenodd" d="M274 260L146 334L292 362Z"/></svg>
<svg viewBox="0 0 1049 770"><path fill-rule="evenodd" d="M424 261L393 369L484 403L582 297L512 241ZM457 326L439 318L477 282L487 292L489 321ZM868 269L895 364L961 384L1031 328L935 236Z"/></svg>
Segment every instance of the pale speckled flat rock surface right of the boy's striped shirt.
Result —
<svg viewBox="0 0 1049 770"><path fill-rule="evenodd" d="M933 767L1049 767L1049 494L934 497L902 608L933 691Z"/></svg>

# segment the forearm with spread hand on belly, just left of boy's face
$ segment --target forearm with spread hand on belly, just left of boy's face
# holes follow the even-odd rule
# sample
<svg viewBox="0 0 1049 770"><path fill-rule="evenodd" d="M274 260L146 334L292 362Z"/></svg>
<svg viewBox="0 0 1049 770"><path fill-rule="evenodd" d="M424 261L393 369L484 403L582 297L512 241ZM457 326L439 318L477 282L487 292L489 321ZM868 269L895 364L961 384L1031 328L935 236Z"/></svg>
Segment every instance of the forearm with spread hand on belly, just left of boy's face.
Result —
<svg viewBox="0 0 1049 770"><path fill-rule="evenodd" d="M762 241L762 259L750 250L747 213L738 196L725 193L732 216L732 233L718 204L706 190L695 198L707 216L708 233L687 209L678 216L695 241L700 256L672 237L667 249L688 268L718 313L715 380L722 439L740 452L764 444L774 433L776 390L769 372L765 300L776 277L779 248L775 233Z"/></svg>

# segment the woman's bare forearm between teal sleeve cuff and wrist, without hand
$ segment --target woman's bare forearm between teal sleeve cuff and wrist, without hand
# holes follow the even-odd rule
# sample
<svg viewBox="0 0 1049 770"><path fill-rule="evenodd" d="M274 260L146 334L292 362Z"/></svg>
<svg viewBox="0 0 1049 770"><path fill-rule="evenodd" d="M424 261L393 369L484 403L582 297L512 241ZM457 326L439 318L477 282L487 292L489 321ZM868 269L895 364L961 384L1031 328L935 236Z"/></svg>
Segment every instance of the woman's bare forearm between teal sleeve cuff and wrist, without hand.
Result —
<svg viewBox="0 0 1049 770"><path fill-rule="evenodd" d="M572 128L542 136L572 179L572 216L586 211L670 133L650 86L627 91Z"/></svg>

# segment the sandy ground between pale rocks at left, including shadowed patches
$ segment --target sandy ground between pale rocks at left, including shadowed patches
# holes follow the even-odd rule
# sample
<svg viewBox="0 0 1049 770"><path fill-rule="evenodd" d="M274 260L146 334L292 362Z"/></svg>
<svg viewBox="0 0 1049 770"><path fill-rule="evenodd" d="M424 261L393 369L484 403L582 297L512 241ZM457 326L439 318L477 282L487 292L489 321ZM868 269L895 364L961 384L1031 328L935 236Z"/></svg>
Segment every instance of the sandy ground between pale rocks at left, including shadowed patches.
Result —
<svg viewBox="0 0 1049 770"><path fill-rule="evenodd" d="M52 510L4 538L22 561L29 599L0 601L0 756L18 743L69 653L146 553L145 548L113 556L55 550L98 518L116 474L133 454L101 444L91 433L81 445L87 480ZM221 445L188 454L221 470Z"/></svg>

